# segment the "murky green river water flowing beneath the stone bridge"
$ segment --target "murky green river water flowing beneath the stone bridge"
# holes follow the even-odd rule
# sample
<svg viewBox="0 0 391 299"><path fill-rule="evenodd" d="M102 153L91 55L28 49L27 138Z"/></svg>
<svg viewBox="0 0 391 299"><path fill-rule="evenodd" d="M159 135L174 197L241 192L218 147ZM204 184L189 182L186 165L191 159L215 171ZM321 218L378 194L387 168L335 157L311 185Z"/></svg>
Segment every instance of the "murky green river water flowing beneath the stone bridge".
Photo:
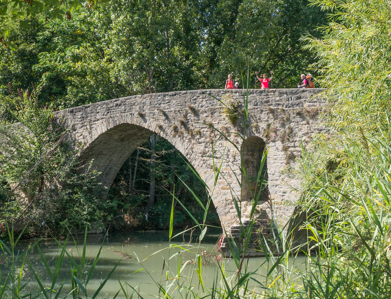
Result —
<svg viewBox="0 0 391 299"><path fill-rule="evenodd" d="M190 260L190 258L194 260L197 254L198 243L194 242L198 237L197 234L194 234L192 242L189 242L190 234L187 233L183 236L178 236L171 243L168 242L169 236L167 231L109 233L105 239L103 239L103 237L103 235L99 234L88 235L87 237L86 259L89 264L95 259L95 256L100 250L100 245L102 245L103 242L99 261L97 262L91 280L87 286L88 297L92 297L99 288L101 281L106 279L111 269L113 269L121 258L122 260L119 262L115 272L108 279L106 285L100 290L99 298L113 298L118 290L121 290L118 280L124 286L124 289L128 294L132 292L132 286L137 292L142 294L143 298L149 298L159 294L159 288L156 285L156 282L163 285L171 294L178 292L179 288L176 283L178 280L186 286L192 285L195 292L197 292L197 290L201 292L202 286L199 285L199 278L195 270L198 269L198 265L190 262L183 265L183 263ZM198 250L198 252L204 252L202 257L203 265L201 275L205 289L212 287L213 280L216 280L216 275L218 275L217 281L221 281L219 266L214 260L214 257L220 254L220 252L216 250L217 246L215 245L218 238L218 231L215 231L215 233L212 234L207 233L203 238L201 248ZM66 245L66 251L74 257L76 261L80 260L79 252L83 250L83 241L84 238L75 238L76 244L79 243L77 248L74 240L70 238ZM32 241L22 243L22 247L26 247L31 244L31 242ZM63 240L60 240L60 242L62 244L64 243ZM173 247L172 244L181 245L181 247ZM168 247L170 245L172 247L169 249ZM61 251L58 243L54 239L43 239L39 242L39 247L45 256L50 269L53 271L57 256L59 256ZM184 251L186 249L189 250ZM118 251L126 252L136 259L124 259L124 255L120 254ZM179 254L180 251L182 251L181 254ZM50 277L47 274L45 265L42 263L38 249L32 249L28 256L29 260L34 265L34 269L36 272L39 272L41 278L44 281L45 279L49 281ZM181 257L180 260L179 257ZM147 259L145 260L145 258ZM257 269L264 261L264 258L250 258L248 260L248 270L253 271ZM299 258L295 263L302 263L303 261L304 258ZM183 268L179 274L181 278L172 279L178 277L179 263L181 263L181 267ZM222 264L222 261L220 261L220 264ZM143 268L144 270L136 272ZM224 269L228 276L234 276L237 271L235 261L233 259L224 259ZM167 270L170 271L168 274ZM262 280L262 276L267 273L267 265L265 264L262 266L257 273L259 276L256 279L259 279L258 281ZM169 280L167 280L167 275ZM27 277L31 277L31 274L26 274L26 279ZM70 260L67 257L64 259L58 282L61 283L63 279L68 282L68 284L65 285L63 292L69 292L71 290L69 285ZM192 279L191 283L190 279ZM174 284L170 286L171 283ZM256 285L256 282L253 282L253 284ZM26 290L29 290L30 288L34 290L37 288L37 285L30 282L27 285ZM126 297L123 292L120 292L118 293L117 298L122 299Z"/></svg>

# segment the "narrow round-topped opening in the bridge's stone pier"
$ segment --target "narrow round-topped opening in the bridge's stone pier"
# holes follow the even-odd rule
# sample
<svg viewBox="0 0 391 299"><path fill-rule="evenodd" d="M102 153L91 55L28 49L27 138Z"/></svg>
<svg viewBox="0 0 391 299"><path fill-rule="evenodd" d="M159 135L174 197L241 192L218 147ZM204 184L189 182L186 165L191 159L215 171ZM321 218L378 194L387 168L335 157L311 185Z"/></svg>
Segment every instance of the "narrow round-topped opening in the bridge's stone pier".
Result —
<svg viewBox="0 0 391 299"><path fill-rule="evenodd" d="M259 201L266 201L269 195L269 188L267 186L267 158L262 168L260 180L257 184L258 172L262 163L262 156L265 150L265 141L258 136L251 136L246 138L240 147L240 152L243 159L243 166L246 170L246 175L249 180L249 185L246 181L244 173L242 171L242 201L251 201L251 192L258 194L259 188L262 186L262 192ZM262 184L261 184L262 183ZM250 192L251 190L251 192Z"/></svg>

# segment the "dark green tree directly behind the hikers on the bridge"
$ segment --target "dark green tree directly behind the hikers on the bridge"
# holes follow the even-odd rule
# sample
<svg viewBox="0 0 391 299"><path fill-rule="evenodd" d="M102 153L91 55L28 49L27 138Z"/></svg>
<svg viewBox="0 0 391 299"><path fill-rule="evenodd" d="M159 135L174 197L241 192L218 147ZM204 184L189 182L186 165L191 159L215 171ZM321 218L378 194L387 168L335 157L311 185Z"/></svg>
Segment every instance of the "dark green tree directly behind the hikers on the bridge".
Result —
<svg viewBox="0 0 391 299"><path fill-rule="evenodd" d="M228 73L241 81L249 68L250 73L274 70L273 88L296 87L300 74L314 61L312 53L302 50L300 37L306 32L319 37L317 27L325 25L325 14L307 4L307 0L244 0L237 4L236 18L215 29L229 28L218 47L213 42L215 34L206 37L204 64L211 68L207 86L224 88Z"/></svg>

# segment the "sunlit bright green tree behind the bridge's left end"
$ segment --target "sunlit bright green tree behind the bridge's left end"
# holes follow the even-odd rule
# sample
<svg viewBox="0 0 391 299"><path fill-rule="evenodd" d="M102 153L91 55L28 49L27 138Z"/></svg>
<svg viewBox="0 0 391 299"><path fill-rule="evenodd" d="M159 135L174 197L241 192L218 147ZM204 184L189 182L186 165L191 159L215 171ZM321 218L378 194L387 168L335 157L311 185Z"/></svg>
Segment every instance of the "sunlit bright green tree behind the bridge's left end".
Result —
<svg viewBox="0 0 391 299"><path fill-rule="evenodd" d="M108 77L100 28L88 18L93 12L76 14L72 21L30 21L34 30L20 30L10 36L18 49L0 49L0 92L39 86L39 104L55 101L64 109L124 95L123 88ZM113 82L114 81L114 82Z"/></svg>

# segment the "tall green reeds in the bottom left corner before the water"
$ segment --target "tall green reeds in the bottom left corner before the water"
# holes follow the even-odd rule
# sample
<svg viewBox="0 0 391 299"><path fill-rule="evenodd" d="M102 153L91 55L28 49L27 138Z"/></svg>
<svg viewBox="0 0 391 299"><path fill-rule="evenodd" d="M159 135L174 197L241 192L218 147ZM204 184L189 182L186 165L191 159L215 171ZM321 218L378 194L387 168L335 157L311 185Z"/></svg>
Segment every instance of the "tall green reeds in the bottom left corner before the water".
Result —
<svg viewBox="0 0 391 299"><path fill-rule="evenodd" d="M24 231L24 229L23 229ZM68 243L68 237L64 242L59 242L58 240L58 249L59 254L56 257L56 263L54 267L49 267L47 260L45 259L44 254L39 248L38 242L35 242L24 252L20 252L20 246L18 246L18 242L20 235L15 238L13 229L9 229L7 226L7 232L9 239L8 242L4 242L0 240L0 248L2 250L2 256L7 257L3 260L2 272L1 272L1 284L0 284L0 298L45 298L45 299L57 299L57 298L91 298L95 299L98 295L100 295L100 290L104 287L111 274L115 271L117 265L120 263L118 261L117 265L113 267L108 276L104 281L100 283L100 286L93 294L88 294L87 286L91 281L91 276L94 272L95 266L99 260L100 251L102 250L102 245L98 251L97 256L94 261L87 266L86 263L86 239L87 239L87 228L84 234L84 243L82 247L79 247L76 240L73 238L74 245L76 246L76 252L79 257L78 260L75 260L67 251L66 245ZM8 244L8 245L7 245ZM46 280L43 279L43 275L45 273L36 272L32 263L29 260L29 252L36 247L38 249L39 255L41 256L42 264L45 266L45 271L47 272L47 276L50 278L50 283L48 284ZM70 269L70 281L66 281L62 275L60 275L60 271L62 267L64 267L64 258L65 256L69 260L69 269ZM32 279L25 281L26 272L30 271L32 273ZM31 281L32 280L32 281ZM33 285L36 286L35 290L32 288L27 288L29 283L32 282ZM70 287L69 292L64 292L64 286ZM67 289L68 289L67 288ZM119 291L117 292L117 294ZM115 298L115 295L113 298Z"/></svg>

